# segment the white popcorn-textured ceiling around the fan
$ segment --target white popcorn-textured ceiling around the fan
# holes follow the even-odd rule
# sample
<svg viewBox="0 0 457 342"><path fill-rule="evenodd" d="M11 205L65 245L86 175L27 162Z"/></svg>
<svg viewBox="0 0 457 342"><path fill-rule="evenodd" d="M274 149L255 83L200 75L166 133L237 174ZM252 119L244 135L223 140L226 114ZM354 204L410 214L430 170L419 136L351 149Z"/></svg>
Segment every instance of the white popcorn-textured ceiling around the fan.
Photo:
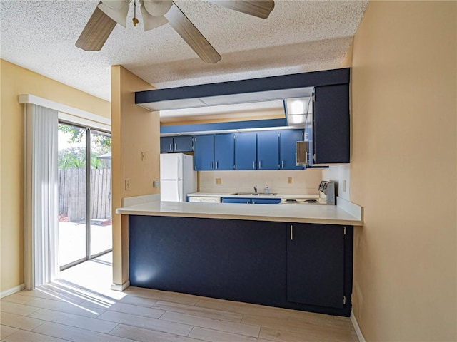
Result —
<svg viewBox="0 0 457 342"><path fill-rule="evenodd" d="M110 66L156 88L339 68L368 1L275 0L258 19L203 0L176 0L222 56L202 62L166 24L116 25L101 51L74 46L99 0L1 0L1 58L110 100ZM138 8L138 7L137 7Z"/></svg>

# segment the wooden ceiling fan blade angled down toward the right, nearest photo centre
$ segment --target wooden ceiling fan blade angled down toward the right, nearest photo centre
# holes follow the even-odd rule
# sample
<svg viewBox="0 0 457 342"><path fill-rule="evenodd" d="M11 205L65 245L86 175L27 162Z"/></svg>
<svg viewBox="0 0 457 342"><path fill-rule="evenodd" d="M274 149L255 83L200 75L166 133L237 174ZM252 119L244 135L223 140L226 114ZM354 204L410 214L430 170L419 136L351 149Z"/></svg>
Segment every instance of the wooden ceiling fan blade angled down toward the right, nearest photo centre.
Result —
<svg viewBox="0 0 457 342"><path fill-rule="evenodd" d="M216 49L211 46L209 41L201 34L198 28L192 24L187 16L173 3L170 10L164 15L169 20L171 27L174 28L181 38L195 51L202 61L206 63L217 63L221 56Z"/></svg>

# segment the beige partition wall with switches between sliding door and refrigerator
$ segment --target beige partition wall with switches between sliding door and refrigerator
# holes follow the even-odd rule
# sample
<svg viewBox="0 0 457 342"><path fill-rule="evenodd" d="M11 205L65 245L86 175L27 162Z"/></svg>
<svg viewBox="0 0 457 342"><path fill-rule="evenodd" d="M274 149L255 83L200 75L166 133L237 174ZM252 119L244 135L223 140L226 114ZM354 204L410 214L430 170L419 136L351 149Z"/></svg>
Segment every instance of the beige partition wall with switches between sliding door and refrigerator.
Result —
<svg viewBox="0 0 457 342"><path fill-rule="evenodd" d="M159 193L159 113L135 105L135 91L152 86L122 66L111 67L111 154L113 212L122 198ZM146 152L146 160L141 160ZM125 180L130 180L130 190ZM129 227L126 217L113 215L113 282L129 279Z"/></svg>

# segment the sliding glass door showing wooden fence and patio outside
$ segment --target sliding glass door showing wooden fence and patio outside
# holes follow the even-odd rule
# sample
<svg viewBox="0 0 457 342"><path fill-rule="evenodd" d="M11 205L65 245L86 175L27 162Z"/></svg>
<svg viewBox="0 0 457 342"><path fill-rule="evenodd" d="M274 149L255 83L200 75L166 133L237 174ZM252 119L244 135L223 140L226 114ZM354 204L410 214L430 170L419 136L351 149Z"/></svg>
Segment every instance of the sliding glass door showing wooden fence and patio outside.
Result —
<svg viewBox="0 0 457 342"><path fill-rule="evenodd" d="M59 264L111 250L111 135L59 123Z"/></svg>

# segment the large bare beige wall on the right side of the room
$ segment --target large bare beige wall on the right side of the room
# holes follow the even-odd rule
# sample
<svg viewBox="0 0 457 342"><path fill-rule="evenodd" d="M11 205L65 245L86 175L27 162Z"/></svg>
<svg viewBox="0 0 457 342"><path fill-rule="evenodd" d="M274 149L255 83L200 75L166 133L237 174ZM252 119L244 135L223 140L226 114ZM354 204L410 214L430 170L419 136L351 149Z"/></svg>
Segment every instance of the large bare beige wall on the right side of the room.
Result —
<svg viewBox="0 0 457 342"><path fill-rule="evenodd" d="M353 42L353 312L367 341L457 341L456 44L456 1L372 1Z"/></svg>

